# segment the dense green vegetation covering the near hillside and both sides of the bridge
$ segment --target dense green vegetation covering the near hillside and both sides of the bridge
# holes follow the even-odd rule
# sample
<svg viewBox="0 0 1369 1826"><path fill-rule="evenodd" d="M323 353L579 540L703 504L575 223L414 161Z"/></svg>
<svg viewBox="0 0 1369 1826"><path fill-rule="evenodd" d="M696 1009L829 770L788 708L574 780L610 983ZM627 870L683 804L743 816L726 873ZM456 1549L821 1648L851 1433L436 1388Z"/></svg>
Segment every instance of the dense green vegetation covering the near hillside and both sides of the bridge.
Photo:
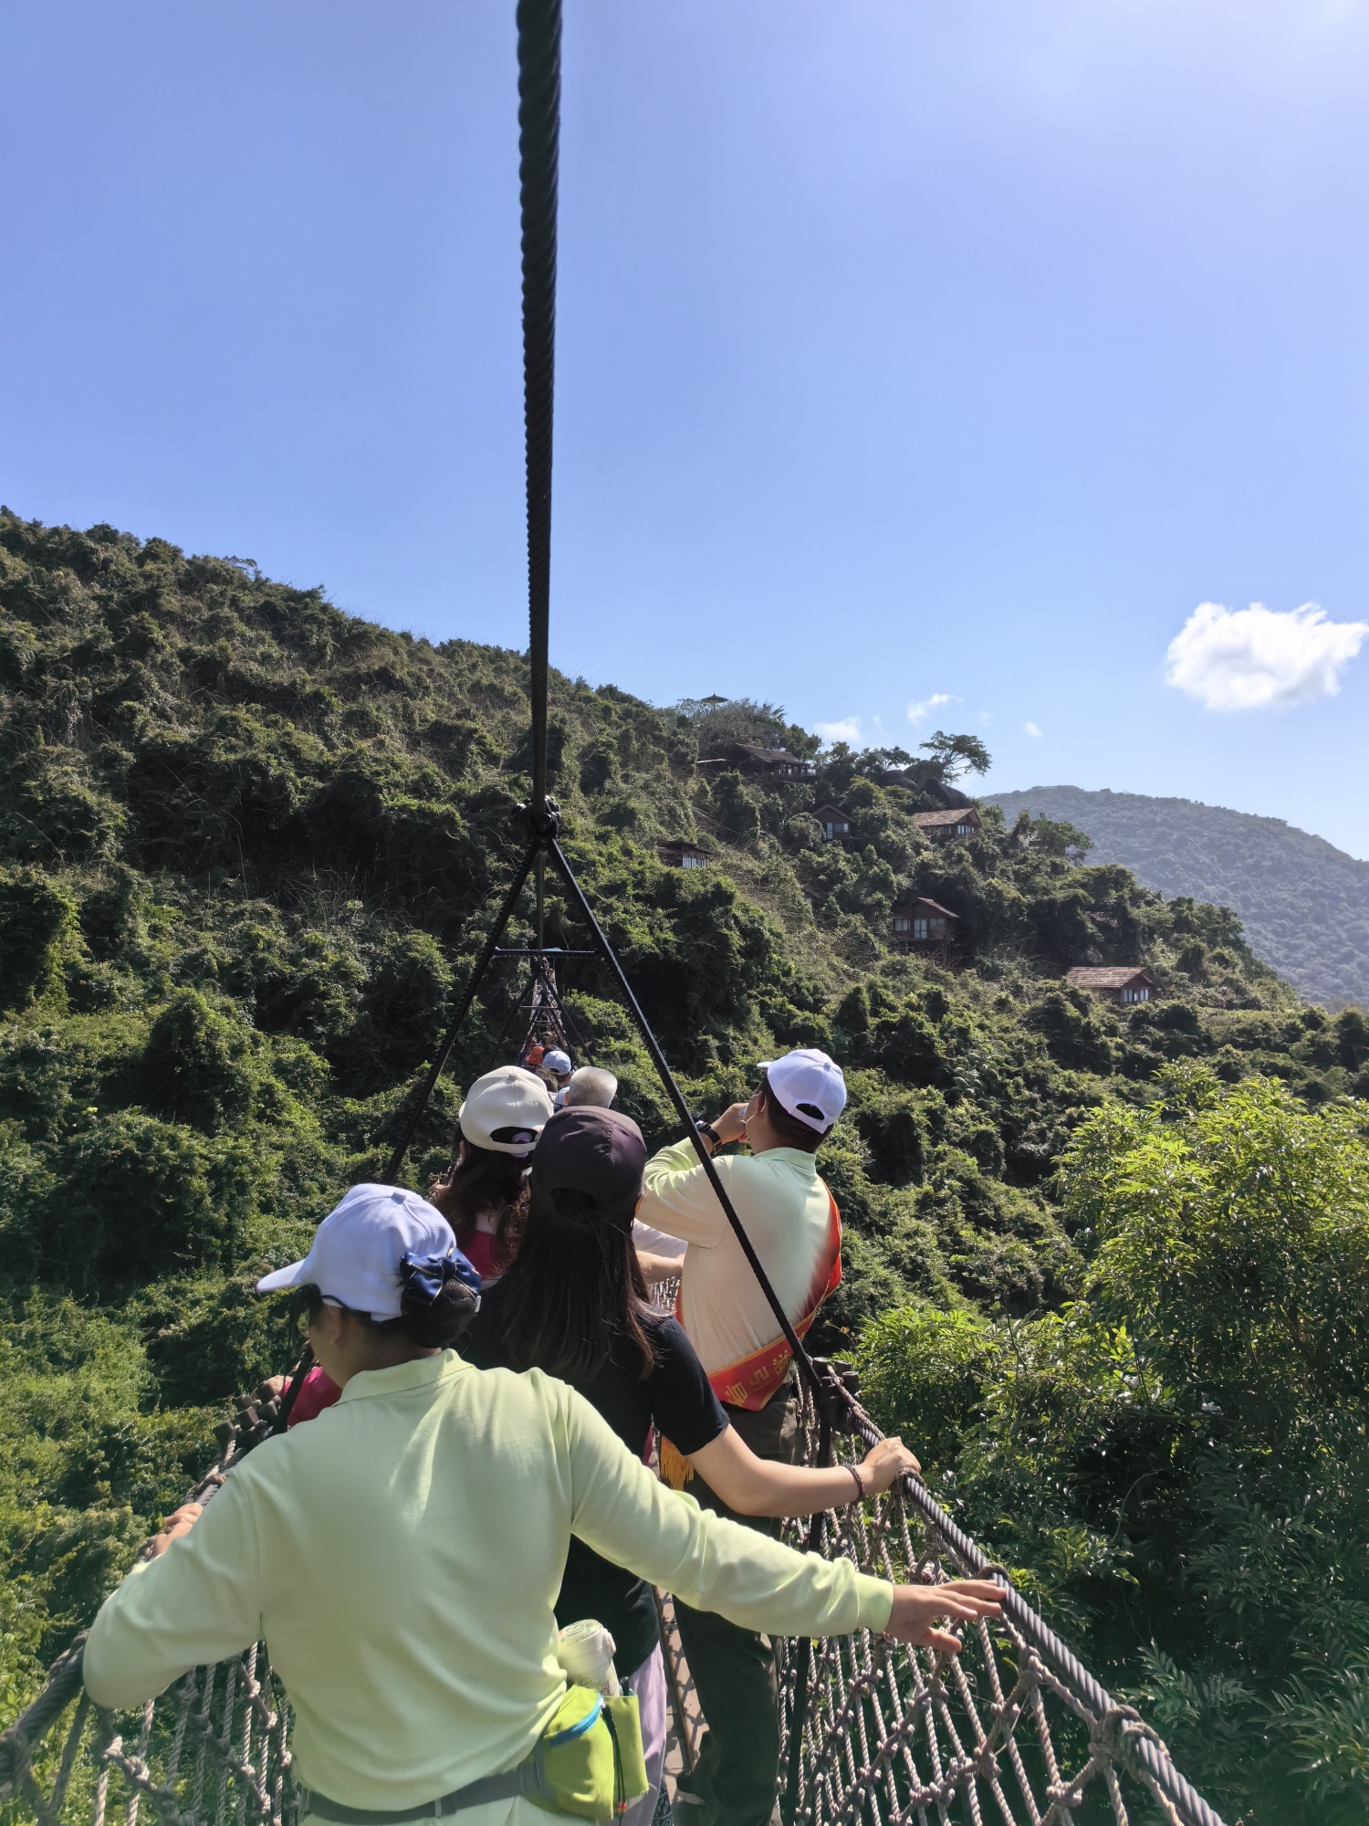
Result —
<svg viewBox="0 0 1369 1826"><path fill-rule="evenodd" d="M250 566L0 513L5 1711L203 1463L221 1404L287 1360L252 1280L381 1170L518 851L524 672ZM736 740L814 754L816 778L697 769L701 745ZM1254 1753L1214 1760L1197 1727L1190 1747L1183 1707L1263 1744L1270 1707L1312 1740L1316 1707L1345 1698L1291 1618L1303 1592L1323 1616L1342 1585L1354 1596L1364 1550L1345 1328L1369 1028L1301 1006L1230 913L1092 866L1068 824L986 807L978 836L933 849L911 822L929 802L883 783L889 760L820 754L767 705L655 710L553 677L566 847L690 1096L743 1094L783 1044L847 1066L851 1116L825 1150L847 1278L823 1342L863 1338L880 1411L947 1499L1031 1569L1108 1678L1150 1682L1194 1775L1254 1808ZM823 842L829 800L851 845ZM672 836L712 866L664 866ZM902 891L960 915L956 953L891 951ZM575 946L555 898L551 924ZM1165 995L1126 1013L1062 981L1137 960ZM668 1136L606 981L573 968L588 1052ZM513 988L493 984L462 1037L413 1183L445 1161L458 1086L498 1057ZM1322 1203L1307 1192L1303 1211L1291 1180L1250 1267L1245 1218L1212 1187L1228 1128L1256 1119L1303 1138ZM1256 1269L1272 1287L1289 1262L1303 1276L1239 1362L1221 1324L1256 1313L1205 1295L1199 1271L1183 1282L1205 1198L1208 1247L1232 1254L1217 1289L1254 1287ZM1155 1278L1170 1254L1177 1278ZM1281 1539L1305 1572L1278 1625ZM1345 1718L1327 1795L1362 1749ZM1270 1747L1259 1782L1294 1760Z"/></svg>

